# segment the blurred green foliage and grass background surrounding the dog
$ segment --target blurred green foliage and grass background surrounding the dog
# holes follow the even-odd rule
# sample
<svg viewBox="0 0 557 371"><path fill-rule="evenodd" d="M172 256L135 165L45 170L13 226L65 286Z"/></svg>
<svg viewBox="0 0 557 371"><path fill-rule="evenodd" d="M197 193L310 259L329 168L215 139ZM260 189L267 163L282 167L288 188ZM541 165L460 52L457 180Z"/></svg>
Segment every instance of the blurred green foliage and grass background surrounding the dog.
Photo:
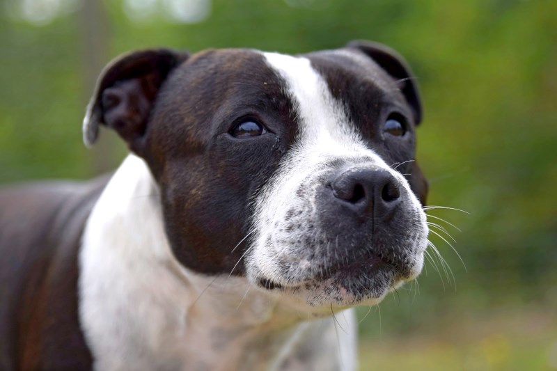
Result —
<svg viewBox="0 0 557 371"><path fill-rule="evenodd" d="M557 369L557 1L2 0L0 182L86 179L123 143L81 143L102 66L130 49L299 53L384 42L417 76L418 159L453 271L427 262L361 308L362 370ZM435 220L432 220L435 221ZM439 230L437 231L439 232ZM444 232L440 232L443 234ZM368 314L367 314L368 313Z"/></svg>

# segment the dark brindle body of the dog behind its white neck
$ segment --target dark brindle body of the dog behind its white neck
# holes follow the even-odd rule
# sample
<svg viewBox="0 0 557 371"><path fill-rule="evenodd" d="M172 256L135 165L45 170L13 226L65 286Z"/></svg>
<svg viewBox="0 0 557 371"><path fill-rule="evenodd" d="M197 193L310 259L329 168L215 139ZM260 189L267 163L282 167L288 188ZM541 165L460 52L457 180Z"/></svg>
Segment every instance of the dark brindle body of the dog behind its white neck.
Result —
<svg viewBox="0 0 557 371"><path fill-rule="evenodd" d="M77 320L77 251L108 180L31 182L0 190L2 370L81 370L90 362Z"/></svg>

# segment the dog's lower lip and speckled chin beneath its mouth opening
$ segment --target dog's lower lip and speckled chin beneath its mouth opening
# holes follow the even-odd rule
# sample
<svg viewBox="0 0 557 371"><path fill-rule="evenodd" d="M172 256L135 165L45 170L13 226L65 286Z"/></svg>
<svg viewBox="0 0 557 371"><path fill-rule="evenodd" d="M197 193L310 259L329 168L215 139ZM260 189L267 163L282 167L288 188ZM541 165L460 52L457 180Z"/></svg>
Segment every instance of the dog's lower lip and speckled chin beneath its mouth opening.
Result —
<svg viewBox="0 0 557 371"><path fill-rule="evenodd" d="M423 258L416 258L407 267L396 267L379 259L366 263L329 269L298 282L258 278L257 285L285 302L307 306L308 313L330 314L331 310L379 303L386 294L420 274Z"/></svg>

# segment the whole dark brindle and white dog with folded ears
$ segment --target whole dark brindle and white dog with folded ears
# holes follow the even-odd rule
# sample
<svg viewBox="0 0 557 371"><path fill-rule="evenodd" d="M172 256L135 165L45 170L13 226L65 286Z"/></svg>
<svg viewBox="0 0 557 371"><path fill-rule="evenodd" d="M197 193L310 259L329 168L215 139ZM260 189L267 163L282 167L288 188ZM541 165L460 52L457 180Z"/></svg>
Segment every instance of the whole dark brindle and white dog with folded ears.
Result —
<svg viewBox="0 0 557 371"><path fill-rule="evenodd" d="M421 117L373 42L120 56L116 173L0 193L1 370L354 370L350 308L423 266Z"/></svg>

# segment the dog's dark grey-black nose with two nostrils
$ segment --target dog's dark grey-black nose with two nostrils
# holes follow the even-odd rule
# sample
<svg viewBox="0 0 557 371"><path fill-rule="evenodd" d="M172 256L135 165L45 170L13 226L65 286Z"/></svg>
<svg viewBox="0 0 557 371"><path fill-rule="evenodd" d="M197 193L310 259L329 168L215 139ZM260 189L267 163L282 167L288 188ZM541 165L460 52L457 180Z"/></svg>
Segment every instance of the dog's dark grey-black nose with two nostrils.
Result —
<svg viewBox="0 0 557 371"><path fill-rule="evenodd" d="M386 216L400 203L398 181L382 168L354 168L331 182L334 196L358 214Z"/></svg>

